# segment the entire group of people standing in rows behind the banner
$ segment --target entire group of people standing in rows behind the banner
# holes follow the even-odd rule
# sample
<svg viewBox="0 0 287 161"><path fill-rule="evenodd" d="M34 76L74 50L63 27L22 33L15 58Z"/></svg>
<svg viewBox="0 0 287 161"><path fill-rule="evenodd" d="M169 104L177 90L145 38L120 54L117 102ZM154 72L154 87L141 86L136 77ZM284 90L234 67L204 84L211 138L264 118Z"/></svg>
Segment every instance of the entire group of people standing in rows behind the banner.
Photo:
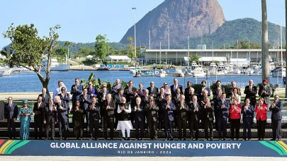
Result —
<svg viewBox="0 0 287 161"><path fill-rule="evenodd" d="M150 139L157 140L157 132L164 129L165 140L174 140L174 129L179 131L179 140L198 140L199 128L205 131L205 141L213 141L213 124L218 132L219 140L226 140L227 121L230 121L231 139L239 140L240 120L243 121L243 139L251 139L251 126L254 112L257 113L258 140L264 140L267 111L272 112L272 140L281 140L281 109L283 103L278 95L274 96L274 102L270 102L271 88L267 80L262 81L262 86L257 92L253 81L249 81L244 89L245 99L241 105L240 88L232 81L232 88L225 89L221 82L216 82L216 89L210 91L206 87L206 81L201 82L201 89L195 91L191 81L187 88L174 78L173 85L164 83L161 88L150 82L150 87L143 88L140 83L135 88L133 81L128 82L128 87L123 88L120 80L116 79L111 91L107 90L106 84L97 91L90 81L86 88L75 79L70 95L72 95L72 108L69 108L70 97L67 88L62 81L58 82L53 97L46 93L43 88L42 94L38 96L38 102L33 109L28 107L27 100L23 100L23 107L18 109L8 98L5 105L5 118L8 123L9 138L15 138L15 121L20 117L21 139L29 138L30 116L34 116L35 139L42 138L43 125L45 128L45 139L55 139L55 124L59 126L60 140L67 140L69 131L69 112L73 114L72 124L74 137L81 140L84 129L89 134L89 140L98 140L99 129L104 133L104 139L114 138L114 130L122 131L122 140L130 140L130 130L135 129L135 139L142 141L145 138L145 129L150 133ZM210 93L213 98L210 99ZM257 102L257 94L259 100ZM229 97L227 99L226 97ZM84 124L86 119L86 124ZM147 121L147 127L145 122ZM200 124L201 123L201 124ZM116 124L116 126L115 126ZM86 125L84 127L84 125ZM189 128L189 138L186 129ZM108 135L108 129L110 129ZM125 130L127 135L125 135ZM247 133L248 131L248 133Z"/></svg>

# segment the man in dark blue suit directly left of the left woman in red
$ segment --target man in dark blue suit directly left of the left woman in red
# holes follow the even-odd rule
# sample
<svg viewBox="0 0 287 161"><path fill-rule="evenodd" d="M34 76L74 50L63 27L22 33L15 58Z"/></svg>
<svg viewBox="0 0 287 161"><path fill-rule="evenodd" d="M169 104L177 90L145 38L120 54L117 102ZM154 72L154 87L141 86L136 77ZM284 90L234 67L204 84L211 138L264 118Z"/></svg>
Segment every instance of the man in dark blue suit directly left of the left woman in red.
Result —
<svg viewBox="0 0 287 161"><path fill-rule="evenodd" d="M229 113L229 100L226 100L226 94L221 95L218 100L216 109L218 109L218 138L221 139L221 131L223 131L223 141L226 141L227 133L227 118Z"/></svg>

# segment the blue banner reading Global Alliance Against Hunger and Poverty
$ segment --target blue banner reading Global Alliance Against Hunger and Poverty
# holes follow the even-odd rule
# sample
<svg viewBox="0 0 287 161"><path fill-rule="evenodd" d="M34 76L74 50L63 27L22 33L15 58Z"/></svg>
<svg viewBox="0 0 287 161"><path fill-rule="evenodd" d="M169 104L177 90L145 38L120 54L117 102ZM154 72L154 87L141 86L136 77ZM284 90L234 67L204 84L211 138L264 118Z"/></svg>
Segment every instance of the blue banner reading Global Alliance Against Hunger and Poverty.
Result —
<svg viewBox="0 0 287 161"><path fill-rule="evenodd" d="M286 141L20 141L0 140L0 155L34 156L287 156Z"/></svg>

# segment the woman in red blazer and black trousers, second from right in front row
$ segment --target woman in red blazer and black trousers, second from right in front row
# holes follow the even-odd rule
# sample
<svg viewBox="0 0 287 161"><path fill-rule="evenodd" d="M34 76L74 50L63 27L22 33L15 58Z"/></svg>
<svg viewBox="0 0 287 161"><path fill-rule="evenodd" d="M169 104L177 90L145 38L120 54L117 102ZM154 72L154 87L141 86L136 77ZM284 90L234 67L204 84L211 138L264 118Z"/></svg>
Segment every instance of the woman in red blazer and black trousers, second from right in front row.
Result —
<svg viewBox="0 0 287 161"><path fill-rule="evenodd" d="M266 119L267 119L267 105L263 104L264 98L259 98L259 104L256 105L254 110L257 120L257 137L258 141L264 141L265 136L265 126L266 126Z"/></svg>

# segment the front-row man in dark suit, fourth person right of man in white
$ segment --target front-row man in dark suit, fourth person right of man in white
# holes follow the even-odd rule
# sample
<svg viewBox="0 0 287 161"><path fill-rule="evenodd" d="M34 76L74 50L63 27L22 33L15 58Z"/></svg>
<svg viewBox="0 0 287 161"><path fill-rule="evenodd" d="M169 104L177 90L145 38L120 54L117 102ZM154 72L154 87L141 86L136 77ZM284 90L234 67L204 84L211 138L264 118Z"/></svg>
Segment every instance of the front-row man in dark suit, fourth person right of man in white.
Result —
<svg viewBox="0 0 287 161"><path fill-rule="evenodd" d="M186 141L186 121L188 119L188 105L184 102L184 95L179 97L176 102L176 121L179 126L179 140L182 139L182 131L184 131L184 141Z"/></svg>

